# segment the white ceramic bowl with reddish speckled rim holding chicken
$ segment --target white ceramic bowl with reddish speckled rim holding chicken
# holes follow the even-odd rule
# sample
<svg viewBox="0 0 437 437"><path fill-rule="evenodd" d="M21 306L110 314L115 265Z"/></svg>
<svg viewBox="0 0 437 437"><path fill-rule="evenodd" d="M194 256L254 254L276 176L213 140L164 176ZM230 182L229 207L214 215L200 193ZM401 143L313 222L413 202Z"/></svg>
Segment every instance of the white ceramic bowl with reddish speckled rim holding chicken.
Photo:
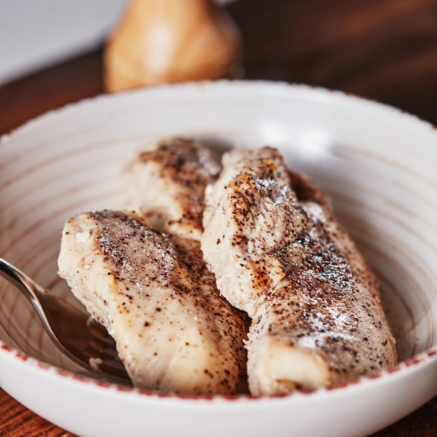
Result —
<svg viewBox="0 0 437 437"><path fill-rule="evenodd" d="M401 363L345 387L273 399L126 390L61 370L27 302L1 282L4 390L68 431L105 437L364 436L437 394L437 129L385 105L305 86L216 82L50 112L1 141L1 256L65 293L56 263L64 221L119 208L126 155L170 135L272 145L313 177L380 277Z"/></svg>

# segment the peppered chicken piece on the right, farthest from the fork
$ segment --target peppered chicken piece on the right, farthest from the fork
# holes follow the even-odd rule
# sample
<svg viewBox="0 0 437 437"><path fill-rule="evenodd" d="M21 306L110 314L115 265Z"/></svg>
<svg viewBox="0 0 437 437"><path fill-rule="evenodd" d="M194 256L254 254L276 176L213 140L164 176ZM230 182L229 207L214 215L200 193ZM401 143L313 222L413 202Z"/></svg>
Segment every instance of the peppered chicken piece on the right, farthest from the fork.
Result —
<svg viewBox="0 0 437 437"><path fill-rule="evenodd" d="M206 204L205 260L252 318L252 394L337 385L397 361L375 276L327 198L278 151L225 154Z"/></svg>

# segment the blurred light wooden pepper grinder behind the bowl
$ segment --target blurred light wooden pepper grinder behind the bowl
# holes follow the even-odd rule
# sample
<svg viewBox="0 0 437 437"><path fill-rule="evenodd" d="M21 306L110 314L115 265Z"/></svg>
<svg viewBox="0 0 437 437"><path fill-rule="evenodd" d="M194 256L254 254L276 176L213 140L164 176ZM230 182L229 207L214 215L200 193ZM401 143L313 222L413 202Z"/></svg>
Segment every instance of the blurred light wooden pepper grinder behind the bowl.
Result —
<svg viewBox="0 0 437 437"><path fill-rule="evenodd" d="M239 77L239 32L214 0L130 0L108 38L105 89Z"/></svg>

